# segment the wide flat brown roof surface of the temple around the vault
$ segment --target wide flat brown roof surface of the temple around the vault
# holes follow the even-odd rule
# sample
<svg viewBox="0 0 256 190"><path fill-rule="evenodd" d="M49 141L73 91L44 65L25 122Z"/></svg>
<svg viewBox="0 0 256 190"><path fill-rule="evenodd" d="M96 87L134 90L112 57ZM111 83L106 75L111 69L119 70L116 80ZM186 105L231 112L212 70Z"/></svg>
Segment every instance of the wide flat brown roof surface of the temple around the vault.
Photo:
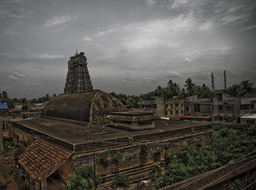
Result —
<svg viewBox="0 0 256 190"><path fill-rule="evenodd" d="M80 126L46 118L29 118L20 121L12 121L12 126L27 134L42 137L45 140L50 140L64 148L74 151L77 150L75 146L79 145L81 149L82 144L88 144L94 141L116 141L133 137L135 142L139 142L184 134L191 132L189 128L192 127L196 127L194 129L195 132L211 128L211 125L206 123L157 120L156 128L154 129L125 131L105 125ZM102 145L100 146L102 147Z"/></svg>

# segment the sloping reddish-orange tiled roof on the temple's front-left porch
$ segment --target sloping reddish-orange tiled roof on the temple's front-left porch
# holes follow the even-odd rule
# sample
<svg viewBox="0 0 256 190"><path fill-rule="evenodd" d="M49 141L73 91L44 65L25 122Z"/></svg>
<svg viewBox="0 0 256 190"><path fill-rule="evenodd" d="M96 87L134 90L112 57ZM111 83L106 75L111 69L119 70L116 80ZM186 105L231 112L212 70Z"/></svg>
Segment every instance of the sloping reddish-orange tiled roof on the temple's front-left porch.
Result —
<svg viewBox="0 0 256 190"><path fill-rule="evenodd" d="M71 155L64 148L37 138L18 156L18 162L31 178L42 180L57 170Z"/></svg>

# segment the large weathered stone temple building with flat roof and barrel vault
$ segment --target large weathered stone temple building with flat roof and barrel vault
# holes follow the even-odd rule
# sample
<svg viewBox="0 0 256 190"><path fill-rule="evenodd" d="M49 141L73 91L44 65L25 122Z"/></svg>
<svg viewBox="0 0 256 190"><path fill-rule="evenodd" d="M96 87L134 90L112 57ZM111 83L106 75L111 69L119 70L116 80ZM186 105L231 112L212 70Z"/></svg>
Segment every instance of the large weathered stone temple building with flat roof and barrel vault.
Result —
<svg viewBox="0 0 256 190"><path fill-rule="evenodd" d="M119 172L129 175L131 181L143 180L155 163L165 159L165 153L206 142L212 133L209 124L159 121L148 113L120 113L125 109L110 94L86 91L56 96L45 105L40 118L12 121L13 140L25 148L17 158L20 174L35 189L45 190L53 175L67 180L75 168L93 165L95 156L104 185ZM103 165L100 156L105 151L110 160L120 152L121 161Z"/></svg>

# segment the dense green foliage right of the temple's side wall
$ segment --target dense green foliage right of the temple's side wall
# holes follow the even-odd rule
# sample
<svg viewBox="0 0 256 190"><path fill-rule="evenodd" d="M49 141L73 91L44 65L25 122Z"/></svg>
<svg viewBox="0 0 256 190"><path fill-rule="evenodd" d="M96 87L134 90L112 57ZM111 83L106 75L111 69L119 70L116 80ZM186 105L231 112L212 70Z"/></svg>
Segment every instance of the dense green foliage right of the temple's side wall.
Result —
<svg viewBox="0 0 256 190"><path fill-rule="evenodd" d="M249 142L256 137L255 127L249 131L228 129L217 125L213 128L214 132L209 145L197 143L165 155L165 175L153 176L154 181L157 182L157 188L214 170L256 148L255 142ZM236 181L233 186L239 188L240 183L244 182Z"/></svg>

